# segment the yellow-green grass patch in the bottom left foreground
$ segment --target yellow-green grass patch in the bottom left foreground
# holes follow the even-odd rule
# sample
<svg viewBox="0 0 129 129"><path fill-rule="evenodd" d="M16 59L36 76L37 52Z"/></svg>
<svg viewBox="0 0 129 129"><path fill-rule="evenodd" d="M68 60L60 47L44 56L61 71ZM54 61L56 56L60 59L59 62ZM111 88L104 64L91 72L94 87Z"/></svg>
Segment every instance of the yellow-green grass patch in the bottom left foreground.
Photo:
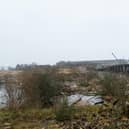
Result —
<svg viewBox="0 0 129 129"><path fill-rule="evenodd" d="M33 129L43 126L43 121L54 119L54 111L49 109L24 109L18 111L0 110L0 125L11 123L14 129ZM32 128L33 127L33 128Z"/></svg>

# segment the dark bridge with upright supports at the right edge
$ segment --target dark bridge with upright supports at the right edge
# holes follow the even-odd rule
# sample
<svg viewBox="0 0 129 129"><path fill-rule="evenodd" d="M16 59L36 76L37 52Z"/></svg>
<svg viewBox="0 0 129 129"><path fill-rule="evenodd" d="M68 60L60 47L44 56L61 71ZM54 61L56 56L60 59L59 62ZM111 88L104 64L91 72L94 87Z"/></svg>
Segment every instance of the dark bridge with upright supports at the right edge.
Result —
<svg viewBox="0 0 129 129"><path fill-rule="evenodd" d="M117 64L117 65L107 66L99 70L116 72L116 73L129 73L129 64Z"/></svg>

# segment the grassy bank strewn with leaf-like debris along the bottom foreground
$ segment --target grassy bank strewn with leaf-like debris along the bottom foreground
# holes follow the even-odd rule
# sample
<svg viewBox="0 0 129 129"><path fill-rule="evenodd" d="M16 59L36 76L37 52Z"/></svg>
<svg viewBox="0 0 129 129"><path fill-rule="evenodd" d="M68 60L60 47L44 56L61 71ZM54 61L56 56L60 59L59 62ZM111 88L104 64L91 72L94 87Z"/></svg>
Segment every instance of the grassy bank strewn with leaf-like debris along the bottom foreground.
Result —
<svg viewBox="0 0 129 129"><path fill-rule="evenodd" d="M70 121L57 121L54 108L0 110L0 129L127 129L129 119L113 105L76 107Z"/></svg>

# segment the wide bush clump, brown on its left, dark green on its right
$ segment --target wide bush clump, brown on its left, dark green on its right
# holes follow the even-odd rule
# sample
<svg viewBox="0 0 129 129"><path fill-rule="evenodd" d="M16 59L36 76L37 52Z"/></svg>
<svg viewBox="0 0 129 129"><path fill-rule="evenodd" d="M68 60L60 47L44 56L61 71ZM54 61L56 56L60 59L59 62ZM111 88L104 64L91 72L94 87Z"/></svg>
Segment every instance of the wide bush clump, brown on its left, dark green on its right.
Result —
<svg viewBox="0 0 129 129"><path fill-rule="evenodd" d="M54 97L60 95L61 83L55 73L24 72L21 76L25 104L29 106L49 106Z"/></svg>

